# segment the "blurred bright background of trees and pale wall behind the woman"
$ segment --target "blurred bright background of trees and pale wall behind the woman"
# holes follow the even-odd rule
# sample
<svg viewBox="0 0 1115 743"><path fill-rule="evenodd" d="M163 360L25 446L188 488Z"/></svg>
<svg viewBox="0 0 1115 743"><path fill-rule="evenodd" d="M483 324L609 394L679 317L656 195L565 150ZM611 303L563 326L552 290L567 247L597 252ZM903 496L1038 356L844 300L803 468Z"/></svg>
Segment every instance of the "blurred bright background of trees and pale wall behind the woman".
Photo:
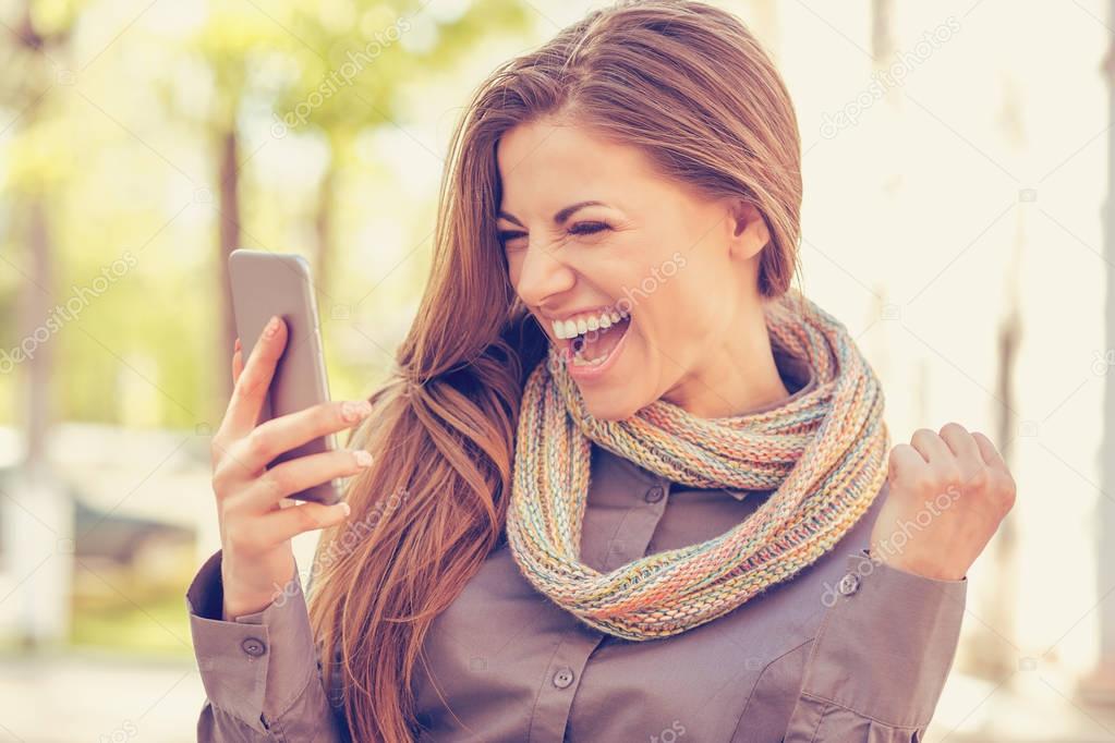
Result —
<svg viewBox="0 0 1115 743"><path fill-rule="evenodd" d="M0 3L0 741L194 740L227 253L304 255L369 394L469 91L598 4ZM803 283L894 442L957 420L1019 485L925 740L1115 741L1112 4L718 4L794 97Z"/></svg>

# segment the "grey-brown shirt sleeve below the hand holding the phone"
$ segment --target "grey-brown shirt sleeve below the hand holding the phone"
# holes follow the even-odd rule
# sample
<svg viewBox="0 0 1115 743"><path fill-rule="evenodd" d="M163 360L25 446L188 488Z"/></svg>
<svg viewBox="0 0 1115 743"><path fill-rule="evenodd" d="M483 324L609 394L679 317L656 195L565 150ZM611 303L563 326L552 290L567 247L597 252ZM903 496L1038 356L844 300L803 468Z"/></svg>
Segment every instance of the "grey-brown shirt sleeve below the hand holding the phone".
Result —
<svg viewBox="0 0 1115 743"><path fill-rule="evenodd" d="M297 564L282 593L263 609L224 620L223 607L217 550L186 590L206 696L198 742L348 741L343 714L326 696Z"/></svg>

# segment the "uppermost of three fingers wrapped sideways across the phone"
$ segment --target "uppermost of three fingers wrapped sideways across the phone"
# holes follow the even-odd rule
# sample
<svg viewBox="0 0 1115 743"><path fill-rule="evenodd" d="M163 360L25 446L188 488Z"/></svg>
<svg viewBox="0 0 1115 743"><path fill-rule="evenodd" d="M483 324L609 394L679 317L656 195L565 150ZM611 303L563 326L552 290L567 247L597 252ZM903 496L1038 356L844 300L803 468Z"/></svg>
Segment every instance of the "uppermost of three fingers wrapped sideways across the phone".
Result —
<svg viewBox="0 0 1115 743"><path fill-rule="evenodd" d="M233 444L233 454L249 471L259 471L279 454L319 436L350 428L370 412L371 404L367 400L320 402L263 421Z"/></svg>

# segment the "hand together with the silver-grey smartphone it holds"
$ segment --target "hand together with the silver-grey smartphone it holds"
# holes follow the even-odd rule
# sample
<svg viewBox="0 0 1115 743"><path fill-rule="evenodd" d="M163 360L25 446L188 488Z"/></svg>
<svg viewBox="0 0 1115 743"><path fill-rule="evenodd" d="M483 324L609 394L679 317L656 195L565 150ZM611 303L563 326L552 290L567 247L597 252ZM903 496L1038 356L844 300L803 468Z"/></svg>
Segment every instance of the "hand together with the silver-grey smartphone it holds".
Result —
<svg viewBox="0 0 1115 743"><path fill-rule="evenodd" d="M369 407L329 399L306 260L236 250L229 277L242 348L233 352L232 399L212 447L225 618L274 599L293 577L291 538L345 519L338 480L371 463L368 452L333 441Z"/></svg>

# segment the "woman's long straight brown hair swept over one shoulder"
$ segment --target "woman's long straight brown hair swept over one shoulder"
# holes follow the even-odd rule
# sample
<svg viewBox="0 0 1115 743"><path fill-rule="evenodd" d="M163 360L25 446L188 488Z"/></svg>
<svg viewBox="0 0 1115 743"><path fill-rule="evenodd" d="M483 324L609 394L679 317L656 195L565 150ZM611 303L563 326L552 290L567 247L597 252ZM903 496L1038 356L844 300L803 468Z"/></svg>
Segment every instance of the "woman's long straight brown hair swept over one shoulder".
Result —
<svg viewBox="0 0 1115 743"><path fill-rule="evenodd" d="M340 666L356 740L413 740L424 637L503 539L523 383L547 340L507 278L495 147L543 116L639 147L663 176L709 196L754 203L770 232L759 291L780 295L795 274L797 121L770 59L731 13L621 0L476 89L450 141L433 266L398 369L349 437L375 463L349 482L352 515L322 534L314 558L311 622L326 678Z"/></svg>

